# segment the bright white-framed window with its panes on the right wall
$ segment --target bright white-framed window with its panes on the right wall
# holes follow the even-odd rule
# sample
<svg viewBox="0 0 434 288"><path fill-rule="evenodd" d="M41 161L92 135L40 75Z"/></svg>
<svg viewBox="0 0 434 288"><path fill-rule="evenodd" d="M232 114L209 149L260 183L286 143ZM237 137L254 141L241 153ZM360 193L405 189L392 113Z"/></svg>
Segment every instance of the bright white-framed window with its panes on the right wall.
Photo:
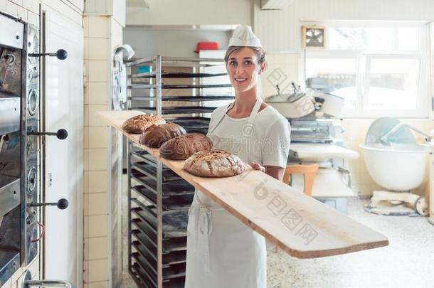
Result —
<svg viewBox="0 0 434 288"><path fill-rule="evenodd" d="M319 23L327 48L306 50L306 87L344 97L344 117L428 117L425 23Z"/></svg>

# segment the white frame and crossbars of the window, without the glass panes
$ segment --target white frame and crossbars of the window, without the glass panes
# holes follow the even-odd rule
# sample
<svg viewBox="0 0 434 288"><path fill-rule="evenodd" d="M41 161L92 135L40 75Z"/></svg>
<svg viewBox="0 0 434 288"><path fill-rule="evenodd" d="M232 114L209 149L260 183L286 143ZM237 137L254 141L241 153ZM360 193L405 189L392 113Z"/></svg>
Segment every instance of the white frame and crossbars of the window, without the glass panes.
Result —
<svg viewBox="0 0 434 288"><path fill-rule="evenodd" d="M318 25L325 26L327 33L329 28L369 28L384 27L393 28L393 48L390 51L376 50L350 50L350 49L333 49L329 50L329 38L326 39L326 48L324 50L305 50L305 70L307 58L349 58L356 61L356 108L342 110L344 118L376 118L376 117L399 117L399 118L428 118L430 107L430 55L428 54L428 23L425 22L364 22L364 21L333 21L333 22L316 22ZM307 23L302 23L307 25ZM398 50L398 28L419 28L420 49L419 50ZM393 58L408 59L416 58L420 61L418 73L418 95L416 96L416 109L413 110L396 110L396 109L369 109L367 102L368 97L364 97L364 91L369 87L369 68L372 59ZM306 73L305 73L306 75ZM306 77L305 77L305 80ZM364 82L365 80L365 82Z"/></svg>

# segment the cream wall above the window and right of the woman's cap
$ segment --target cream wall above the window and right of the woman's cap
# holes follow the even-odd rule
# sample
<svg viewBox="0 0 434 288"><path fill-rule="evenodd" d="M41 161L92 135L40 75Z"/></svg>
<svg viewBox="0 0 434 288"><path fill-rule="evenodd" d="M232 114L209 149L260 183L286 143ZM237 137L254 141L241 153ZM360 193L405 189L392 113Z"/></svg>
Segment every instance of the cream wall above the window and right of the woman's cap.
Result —
<svg viewBox="0 0 434 288"><path fill-rule="evenodd" d="M255 1L254 28L270 53L300 51L300 21L433 21L432 0L296 0L282 11L261 11Z"/></svg>

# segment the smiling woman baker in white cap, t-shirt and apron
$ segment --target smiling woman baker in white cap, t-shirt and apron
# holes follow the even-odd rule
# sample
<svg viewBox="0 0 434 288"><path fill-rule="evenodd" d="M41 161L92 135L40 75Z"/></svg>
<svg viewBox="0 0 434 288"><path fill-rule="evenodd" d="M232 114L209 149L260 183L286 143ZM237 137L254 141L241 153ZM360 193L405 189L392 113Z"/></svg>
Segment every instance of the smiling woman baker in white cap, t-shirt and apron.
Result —
<svg viewBox="0 0 434 288"><path fill-rule="evenodd" d="M263 102L265 53L249 26L235 29L225 55L235 102L211 114L207 136L214 149L237 155L253 169L282 180L290 124ZM245 191L252 193L253 191ZM265 288L265 239L196 191L187 228L186 288Z"/></svg>

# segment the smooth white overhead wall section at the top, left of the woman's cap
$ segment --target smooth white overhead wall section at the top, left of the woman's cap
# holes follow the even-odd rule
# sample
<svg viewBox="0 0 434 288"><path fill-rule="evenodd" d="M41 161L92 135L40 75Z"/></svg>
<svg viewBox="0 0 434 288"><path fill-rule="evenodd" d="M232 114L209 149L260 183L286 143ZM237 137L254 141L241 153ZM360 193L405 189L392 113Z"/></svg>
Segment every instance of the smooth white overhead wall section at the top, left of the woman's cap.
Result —
<svg viewBox="0 0 434 288"><path fill-rule="evenodd" d="M245 24L251 0L147 0L149 9L128 8L127 25Z"/></svg>

